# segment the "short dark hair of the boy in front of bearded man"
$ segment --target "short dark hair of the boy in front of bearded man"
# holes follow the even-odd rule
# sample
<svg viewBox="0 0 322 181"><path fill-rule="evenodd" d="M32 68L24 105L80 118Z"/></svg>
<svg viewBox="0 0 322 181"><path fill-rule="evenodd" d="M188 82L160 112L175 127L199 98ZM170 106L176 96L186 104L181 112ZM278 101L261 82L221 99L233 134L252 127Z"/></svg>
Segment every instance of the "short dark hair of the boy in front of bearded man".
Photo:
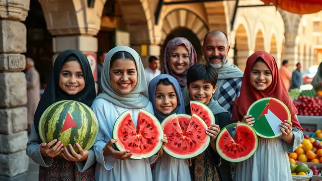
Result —
<svg viewBox="0 0 322 181"><path fill-rule="evenodd" d="M191 82L197 80L204 80L204 82L211 83L214 87L217 84L218 72L209 64L196 63L192 65L187 72L187 86Z"/></svg>

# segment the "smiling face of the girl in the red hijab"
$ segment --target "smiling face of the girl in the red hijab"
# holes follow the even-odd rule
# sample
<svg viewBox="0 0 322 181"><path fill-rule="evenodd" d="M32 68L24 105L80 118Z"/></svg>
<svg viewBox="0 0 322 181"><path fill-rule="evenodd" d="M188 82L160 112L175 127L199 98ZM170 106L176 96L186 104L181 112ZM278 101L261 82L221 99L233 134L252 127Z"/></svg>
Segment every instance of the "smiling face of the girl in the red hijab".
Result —
<svg viewBox="0 0 322 181"><path fill-rule="evenodd" d="M258 91L264 91L272 83L272 72L263 61L257 61L253 64L251 71L251 84Z"/></svg>

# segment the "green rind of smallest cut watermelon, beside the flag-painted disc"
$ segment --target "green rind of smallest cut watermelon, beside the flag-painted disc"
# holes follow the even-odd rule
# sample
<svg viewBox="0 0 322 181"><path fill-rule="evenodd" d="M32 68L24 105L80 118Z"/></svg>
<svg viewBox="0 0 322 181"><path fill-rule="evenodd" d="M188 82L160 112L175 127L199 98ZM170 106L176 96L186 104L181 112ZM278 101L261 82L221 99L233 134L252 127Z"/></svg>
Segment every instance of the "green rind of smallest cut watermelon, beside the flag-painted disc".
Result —
<svg viewBox="0 0 322 181"><path fill-rule="evenodd" d="M220 137L222 136L223 132L226 130L226 127L231 125L227 125L226 127L222 128L220 133L218 134L217 136L217 139L216 139L216 150L217 150L217 153L219 154L220 157L222 157L223 159L229 161L229 162L241 162L241 161L244 161L244 160L247 160L248 158L250 158L251 156L254 155L254 153L256 152L257 148L258 148L258 138L257 138L257 134L256 134L256 131L251 127L249 126L248 124L245 124L245 123L233 123L235 126L236 126L236 129L238 127L238 125L243 125L243 126L247 126L253 133L254 133L254 137L255 137L255 148L246 156L243 156L243 157L240 157L240 158L237 158L237 159L232 159L232 158L228 158L220 149L219 149L219 141L220 141Z"/></svg>

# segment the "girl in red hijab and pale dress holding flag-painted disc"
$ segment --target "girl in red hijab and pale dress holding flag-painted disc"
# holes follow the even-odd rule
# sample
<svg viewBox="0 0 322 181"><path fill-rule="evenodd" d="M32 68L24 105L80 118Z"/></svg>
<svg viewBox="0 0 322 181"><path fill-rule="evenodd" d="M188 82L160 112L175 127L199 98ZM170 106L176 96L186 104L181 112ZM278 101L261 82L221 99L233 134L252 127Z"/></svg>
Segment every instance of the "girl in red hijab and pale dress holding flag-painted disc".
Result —
<svg viewBox="0 0 322 181"><path fill-rule="evenodd" d="M280 125L282 136L258 138L258 149L254 155L235 165L234 180L292 180L287 152L293 152L302 142L303 129L274 57L265 51L257 51L246 62L240 96L233 105L232 122L241 121L253 126L254 118L246 115L247 111L255 101L267 97L282 101L291 112L291 121L286 120Z"/></svg>

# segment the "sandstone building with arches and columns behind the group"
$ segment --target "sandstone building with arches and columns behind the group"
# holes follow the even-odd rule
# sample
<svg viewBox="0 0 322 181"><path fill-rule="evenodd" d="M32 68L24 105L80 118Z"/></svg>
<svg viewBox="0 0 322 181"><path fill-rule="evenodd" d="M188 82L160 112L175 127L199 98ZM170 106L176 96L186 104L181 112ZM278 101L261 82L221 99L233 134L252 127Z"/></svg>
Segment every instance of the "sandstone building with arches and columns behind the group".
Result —
<svg viewBox="0 0 322 181"><path fill-rule="evenodd" d="M229 61L241 70L258 50L270 52L280 66L289 60L303 70L322 61L322 13L296 15L275 7L238 8L235 1L186 3L168 0L12 0L0 1L0 179L28 169L25 57L35 60L42 83L56 56L66 49L82 51L95 72L97 52L131 46L147 65L149 55L163 58L174 37L186 37L202 61L201 46L210 30L221 30L230 42ZM176 2L182 2L177 4ZM172 3L172 4L169 4ZM262 5L259 0L239 6ZM234 20L234 21L232 21ZM5 145L5 146L3 146Z"/></svg>

